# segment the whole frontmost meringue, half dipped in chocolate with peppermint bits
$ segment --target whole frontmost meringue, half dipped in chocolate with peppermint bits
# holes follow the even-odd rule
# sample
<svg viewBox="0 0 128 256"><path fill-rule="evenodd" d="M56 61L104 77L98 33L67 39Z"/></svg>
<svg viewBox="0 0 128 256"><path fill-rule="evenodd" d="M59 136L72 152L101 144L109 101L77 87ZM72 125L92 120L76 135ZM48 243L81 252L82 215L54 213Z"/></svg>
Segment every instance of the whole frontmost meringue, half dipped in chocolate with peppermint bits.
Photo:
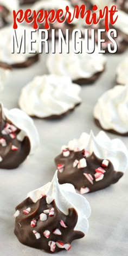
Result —
<svg viewBox="0 0 128 256"><path fill-rule="evenodd" d="M87 234L91 208L71 184L52 182L31 191L14 214L15 235L27 246L47 252L69 251L71 242Z"/></svg>

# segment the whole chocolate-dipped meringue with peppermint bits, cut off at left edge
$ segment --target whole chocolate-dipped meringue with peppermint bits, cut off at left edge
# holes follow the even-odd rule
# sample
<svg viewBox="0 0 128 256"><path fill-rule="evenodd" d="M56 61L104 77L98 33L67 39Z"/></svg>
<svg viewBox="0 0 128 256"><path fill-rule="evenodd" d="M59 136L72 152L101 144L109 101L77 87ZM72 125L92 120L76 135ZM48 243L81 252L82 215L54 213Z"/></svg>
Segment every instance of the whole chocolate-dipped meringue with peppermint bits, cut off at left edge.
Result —
<svg viewBox="0 0 128 256"><path fill-rule="evenodd" d="M39 146L33 120L18 108L0 108L0 168L15 169Z"/></svg>

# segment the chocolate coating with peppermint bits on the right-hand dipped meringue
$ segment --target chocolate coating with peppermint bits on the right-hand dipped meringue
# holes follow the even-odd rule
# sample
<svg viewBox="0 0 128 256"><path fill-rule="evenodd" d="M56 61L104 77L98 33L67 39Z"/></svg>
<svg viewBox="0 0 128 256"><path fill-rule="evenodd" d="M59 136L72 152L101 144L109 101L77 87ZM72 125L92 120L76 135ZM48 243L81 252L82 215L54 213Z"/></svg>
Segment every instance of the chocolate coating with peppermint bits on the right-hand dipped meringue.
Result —
<svg viewBox="0 0 128 256"><path fill-rule="evenodd" d="M73 163L77 159L85 158L87 167L78 168L78 165L74 168ZM59 183L71 183L74 185L76 189L79 191L81 188L88 188L88 192L97 191L100 189L104 189L109 185L118 182L118 180L123 176L123 172L115 171L113 168L113 164L111 161L108 161L108 167L104 167L105 173L104 178L100 181L95 180L94 174L95 169L98 169L102 166L102 162L104 159L100 159L92 153L89 157L84 157L84 150L79 152L70 151L70 155L68 157L64 157L63 154L57 156L55 158L56 165L62 164L64 165L64 169L62 172L58 171ZM103 167L102 167L103 168ZM86 178L85 174L89 174L92 176L93 184L91 184Z"/></svg>

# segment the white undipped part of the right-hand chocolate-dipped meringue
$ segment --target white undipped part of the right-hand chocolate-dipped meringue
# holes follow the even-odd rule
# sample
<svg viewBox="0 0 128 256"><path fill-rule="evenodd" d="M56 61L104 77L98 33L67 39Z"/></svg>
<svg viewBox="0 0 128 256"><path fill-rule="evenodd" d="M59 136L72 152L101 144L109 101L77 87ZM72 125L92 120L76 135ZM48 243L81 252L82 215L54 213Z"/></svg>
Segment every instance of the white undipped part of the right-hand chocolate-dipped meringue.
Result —
<svg viewBox="0 0 128 256"><path fill-rule="evenodd" d="M121 139L110 139L104 131L100 131L97 136L94 136L93 131L89 134L84 132L79 139L71 140L67 146L62 146L62 149L69 150L85 149L92 155L101 159L108 159L114 166L115 171L125 172L128 166L128 151Z"/></svg>

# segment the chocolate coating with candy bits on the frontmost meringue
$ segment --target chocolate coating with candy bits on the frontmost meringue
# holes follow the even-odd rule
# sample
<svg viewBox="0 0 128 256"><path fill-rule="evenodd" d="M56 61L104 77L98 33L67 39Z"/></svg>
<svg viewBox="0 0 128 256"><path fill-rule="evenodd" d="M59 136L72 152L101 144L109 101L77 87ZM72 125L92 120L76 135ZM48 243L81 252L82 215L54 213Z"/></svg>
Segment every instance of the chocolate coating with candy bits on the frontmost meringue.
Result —
<svg viewBox="0 0 128 256"><path fill-rule="evenodd" d="M23 210L29 207L31 208L30 213L25 215ZM55 211L54 215L49 216L49 214L47 214L47 220L41 221L40 214L42 214L44 210L52 208L54 208ZM47 204L46 196L43 196L36 203L28 197L16 207L16 210L20 211L20 215L16 217L14 233L18 240L24 245L51 252L50 246L48 245L49 241L61 241L65 245L67 243L71 244L73 240L84 236L84 233L74 231L74 227L78 221L78 214L76 213L76 210L74 208L70 208L68 215L65 215L57 208L55 201ZM35 227L31 227L31 221L33 220L36 220ZM60 225L61 220L65 223L66 228ZM61 235L53 233L56 228L59 229ZM36 239L33 231L40 234L39 239ZM44 231L50 232L48 238L44 236ZM57 245L55 246L55 252L62 249L63 248L57 247Z"/></svg>

